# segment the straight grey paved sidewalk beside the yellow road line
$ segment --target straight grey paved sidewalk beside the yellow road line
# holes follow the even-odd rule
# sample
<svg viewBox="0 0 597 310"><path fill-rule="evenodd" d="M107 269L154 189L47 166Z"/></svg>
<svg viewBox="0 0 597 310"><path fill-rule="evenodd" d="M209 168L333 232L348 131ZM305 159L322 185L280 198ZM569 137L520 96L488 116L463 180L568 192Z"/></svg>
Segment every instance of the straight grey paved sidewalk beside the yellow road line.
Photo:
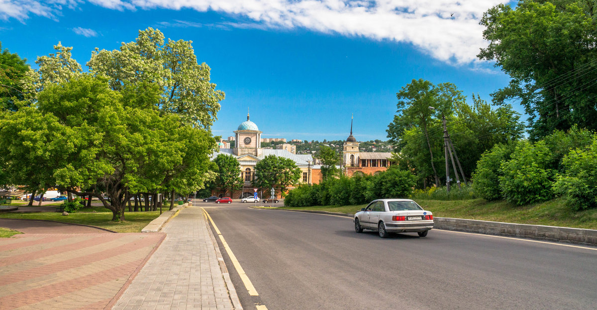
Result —
<svg viewBox="0 0 597 310"><path fill-rule="evenodd" d="M209 229L201 208L181 209L161 230L167 234L164 242L112 309L234 309Z"/></svg>

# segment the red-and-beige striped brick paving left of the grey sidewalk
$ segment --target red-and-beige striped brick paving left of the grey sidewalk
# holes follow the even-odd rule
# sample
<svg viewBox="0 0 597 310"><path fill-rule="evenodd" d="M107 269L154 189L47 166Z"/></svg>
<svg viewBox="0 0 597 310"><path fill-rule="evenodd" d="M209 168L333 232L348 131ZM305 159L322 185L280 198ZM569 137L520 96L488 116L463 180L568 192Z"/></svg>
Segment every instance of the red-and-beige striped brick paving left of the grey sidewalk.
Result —
<svg viewBox="0 0 597 310"><path fill-rule="evenodd" d="M105 232L0 239L0 309L106 308L165 234Z"/></svg>

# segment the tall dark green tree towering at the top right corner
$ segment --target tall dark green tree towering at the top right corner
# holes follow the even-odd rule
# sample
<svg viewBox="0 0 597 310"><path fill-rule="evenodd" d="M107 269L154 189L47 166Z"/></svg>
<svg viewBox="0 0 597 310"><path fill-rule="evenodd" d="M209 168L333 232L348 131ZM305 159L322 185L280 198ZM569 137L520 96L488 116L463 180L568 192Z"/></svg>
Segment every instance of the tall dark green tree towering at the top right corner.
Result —
<svg viewBox="0 0 597 310"><path fill-rule="evenodd" d="M520 101L538 140L573 124L597 129L597 18L594 1L521 0L484 13L490 43L478 57L511 78L492 94L495 104Z"/></svg>

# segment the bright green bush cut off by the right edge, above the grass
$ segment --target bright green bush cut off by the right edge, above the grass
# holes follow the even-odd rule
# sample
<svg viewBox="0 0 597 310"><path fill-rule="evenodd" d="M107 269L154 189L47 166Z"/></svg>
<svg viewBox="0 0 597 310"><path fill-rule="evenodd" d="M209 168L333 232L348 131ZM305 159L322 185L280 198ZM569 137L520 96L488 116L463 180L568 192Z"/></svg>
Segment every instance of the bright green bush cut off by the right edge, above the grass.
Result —
<svg viewBox="0 0 597 310"><path fill-rule="evenodd" d="M597 136L589 148L576 149L562 159L564 174L557 176L553 190L573 210L597 207Z"/></svg>

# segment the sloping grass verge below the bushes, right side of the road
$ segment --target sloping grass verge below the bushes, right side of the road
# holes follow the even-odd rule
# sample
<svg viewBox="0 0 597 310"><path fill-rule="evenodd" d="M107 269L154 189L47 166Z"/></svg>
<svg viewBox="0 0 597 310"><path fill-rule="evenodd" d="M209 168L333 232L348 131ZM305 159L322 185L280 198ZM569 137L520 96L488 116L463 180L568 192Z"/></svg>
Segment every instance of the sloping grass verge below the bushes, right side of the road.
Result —
<svg viewBox="0 0 597 310"><path fill-rule="evenodd" d="M436 217L466 218L518 224L534 224L597 229L597 209L571 211L562 199L515 206L506 201L469 199L459 201L416 200ZM367 205L279 207L279 209L319 210L355 214Z"/></svg>

